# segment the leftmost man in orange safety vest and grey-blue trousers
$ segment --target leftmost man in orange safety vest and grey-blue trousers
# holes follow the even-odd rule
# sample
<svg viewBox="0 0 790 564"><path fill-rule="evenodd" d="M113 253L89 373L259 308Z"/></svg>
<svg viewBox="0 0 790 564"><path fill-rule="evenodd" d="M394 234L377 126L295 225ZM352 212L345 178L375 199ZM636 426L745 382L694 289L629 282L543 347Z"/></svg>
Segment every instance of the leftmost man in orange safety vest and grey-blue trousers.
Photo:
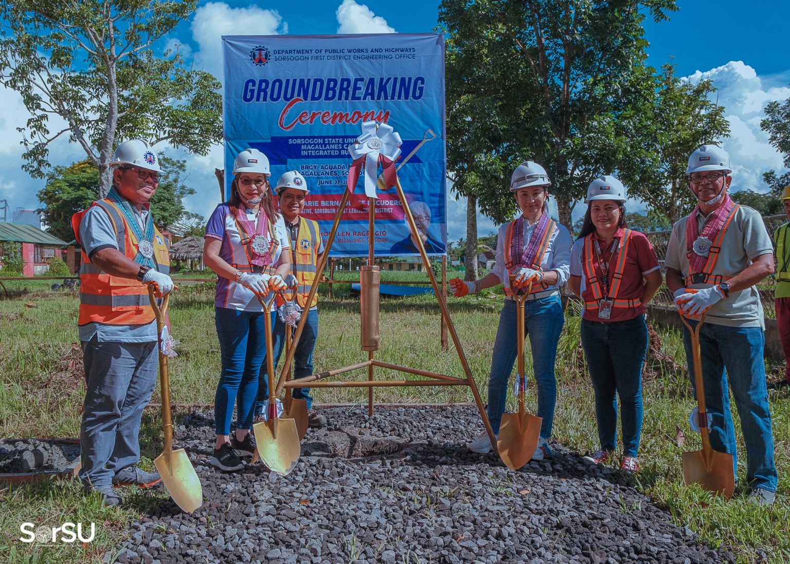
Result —
<svg viewBox="0 0 790 564"><path fill-rule="evenodd" d="M157 472L137 468L140 420L156 387L157 295L173 289L167 239L153 223L149 202L159 183L159 159L145 141L119 145L107 197L74 214L82 247L77 324L85 363L80 428L80 478L106 506L121 502L113 487L152 487ZM163 335L163 339L166 336Z"/></svg>

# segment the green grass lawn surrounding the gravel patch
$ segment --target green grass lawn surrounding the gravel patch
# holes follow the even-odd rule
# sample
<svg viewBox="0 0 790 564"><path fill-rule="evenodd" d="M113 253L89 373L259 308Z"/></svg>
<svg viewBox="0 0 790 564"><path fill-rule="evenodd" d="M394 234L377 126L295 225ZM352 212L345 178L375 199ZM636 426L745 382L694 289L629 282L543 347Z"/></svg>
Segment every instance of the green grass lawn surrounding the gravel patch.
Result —
<svg viewBox="0 0 790 564"><path fill-rule="evenodd" d="M340 273L338 273L340 275ZM344 273L343 276L357 276ZM340 277L340 276L337 276ZM424 273L382 273L384 280L427 280ZM76 437L79 432L84 384L81 352L77 342L77 296L53 292L51 280L6 282L13 299L0 297L0 436ZM26 288L26 291L25 291ZM359 303L336 287L336 298L323 299L320 335L315 352L316 370L348 366L367 359L359 350ZM2 292L2 289L0 289ZM491 364L501 291L484 291L477 296L451 299L450 310L468 363L483 397ZM31 303L34 306L25 306ZM381 300L382 348L375 357L384 362L462 375L461 363L453 350L439 346L438 307L432 295ZM181 341L179 357L171 360L173 401L178 404L211 404L220 370L220 355L213 322L213 284L184 285L171 303L173 334ZM790 560L790 397L771 393L774 442L780 484L777 502L758 508L746 502L745 492L736 491L729 502L713 498L698 488L683 487L681 454L700 448L698 435L688 427L687 417L694 405L685 372L683 345L679 334L658 329L664 352L676 359L680 368L653 365L645 375L645 421L642 430L638 487L657 505L668 509L678 525L688 525L703 539L718 546L735 547L742 562L764 557L768 562ZM526 359L527 367L531 359ZM778 367L769 370L776 372ZM377 369L378 378L404 378ZM366 378L359 370L346 378ZM335 379L339 379L337 377ZM555 438L577 451L596 448L597 434L592 387L585 373L579 347L579 319L572 308L560 337L557 359L558 398ZM377 402L471 401L465 387L379 388ZM318 402L367 401L367 389L314 389ZM533 393L528 407L536 408ZM158 391L154 401L158 401ZM513 401L512 399L510 400ZM510 406L513 408L514 403ZM179 414L182 415L182 414ZM145 413L141 431L143 464L149 465L162 448L158 412ZM177 415L178 417L178 415ZM737 415L734 416L737 428ZM678 446L681 429L686 442ZM739 449L743 438L739 429ZM739 461L741 483L745 481L745 457ZM164 494L160 494L164 495ZM113 549L125 537L129 521L141 517L157 502L156 496L138 491L122 508L103 509L96 499L84 498L76 481L53 481L0 487L0 562L98 562L104 551ZM627 510L629 508L624 508ZM79 543L44 547L21 543L19 525L59 525L63 521L96 523L96 540L87 548ZM349 532L350 533L350 532ZM353 537L349 543L355 542ZM12 551L13 549L13 551ZM43 553L43 550L47 550Z"/></svg>

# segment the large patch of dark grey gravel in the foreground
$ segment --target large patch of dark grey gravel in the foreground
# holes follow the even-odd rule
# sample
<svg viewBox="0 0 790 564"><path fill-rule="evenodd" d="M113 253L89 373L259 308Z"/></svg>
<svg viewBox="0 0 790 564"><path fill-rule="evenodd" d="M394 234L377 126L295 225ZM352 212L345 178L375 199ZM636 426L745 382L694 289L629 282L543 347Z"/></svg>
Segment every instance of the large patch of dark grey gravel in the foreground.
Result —
<svg viewBox="0 0 790 564"><path fill-rule="evenodd" d="M212 414L193 412L177 442L204 505L186 515L162 502L117 562L735 562L562 446L517 472L468 453L482 427L473 406L322 412L329 427L309 431L285 477L209 466Z"/></svg>

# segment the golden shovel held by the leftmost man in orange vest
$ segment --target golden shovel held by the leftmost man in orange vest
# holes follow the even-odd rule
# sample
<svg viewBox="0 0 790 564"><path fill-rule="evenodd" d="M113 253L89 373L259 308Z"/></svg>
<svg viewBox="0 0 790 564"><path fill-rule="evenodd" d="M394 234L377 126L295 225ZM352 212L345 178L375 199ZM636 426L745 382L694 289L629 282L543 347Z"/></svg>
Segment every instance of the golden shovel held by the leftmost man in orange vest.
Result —
<svg viewBox="0 0 790 564"><path fill-rule="evenodd" d="M173 422L170 412L170 378L167 374L167 355L162 351L162 330L164 329L164 315L167 312L167 303L170 294L164 296L162 307L156 305L155 284L149 284L149 298L151 307L156 315L156 334L159 340L159 378L162 392L162 426L164 427L164 449L153 461L156 470L162 476L164 487L173 501L186 513L192 513L203 505L203 487L197 472L195 472L186 450L173 450Z"/></svg>

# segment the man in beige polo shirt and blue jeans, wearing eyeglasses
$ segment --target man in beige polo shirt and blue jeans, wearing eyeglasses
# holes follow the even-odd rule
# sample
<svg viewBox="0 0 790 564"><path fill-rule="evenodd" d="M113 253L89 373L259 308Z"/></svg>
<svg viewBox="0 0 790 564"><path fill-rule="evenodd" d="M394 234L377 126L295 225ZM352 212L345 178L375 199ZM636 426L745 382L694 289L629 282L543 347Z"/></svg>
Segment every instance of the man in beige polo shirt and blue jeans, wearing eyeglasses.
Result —
<svg viewBox="0 0 790 564"><path fill-rule="evenodd" d="M763 355L765 321L755 284L773 273L773 245L760 214L729 197L731 172L730 156L716 145L691 153L686 174L697 205L672 227L667 286L692 326L705 315L699 337L708 412L698 421L707 423L714 450L732 454L737 479L732 389L747 449L748 497L770 505L777 469ZM683 344L688 366L694 367L685 328Z"/></svg>

